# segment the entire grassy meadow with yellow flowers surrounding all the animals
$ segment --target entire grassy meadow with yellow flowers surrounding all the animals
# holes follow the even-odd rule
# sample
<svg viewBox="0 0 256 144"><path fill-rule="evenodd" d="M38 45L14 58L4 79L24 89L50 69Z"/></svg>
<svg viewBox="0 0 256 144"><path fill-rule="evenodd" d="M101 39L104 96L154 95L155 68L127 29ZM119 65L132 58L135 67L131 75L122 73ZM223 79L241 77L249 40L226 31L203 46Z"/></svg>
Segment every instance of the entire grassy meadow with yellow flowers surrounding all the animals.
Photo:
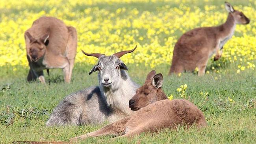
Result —
<svg viewBox="0 0 256 144"><path fill-rule="evenodd" d="M218 61L209 60L206 75L167 76L175 42L185 31L222 24L228 15L223 0L0 0L0 143L13 141L68 141L101 125L46 127L54 107L68 94L98 85L97 72L88 75L96 58L137 49L121 59L139 85L155 69L164 78L170 100L184 98L197 105L208 126L178 127L145 133L131 139L89 138L81 143L256 143L256 1L229 0L250 18L237 25ZM41 16L52 16L74 26L78 48L72 81L60 69L50 70L47 85L28 83L24 31ZM195 69L195 72L197 69Z"/></svg>

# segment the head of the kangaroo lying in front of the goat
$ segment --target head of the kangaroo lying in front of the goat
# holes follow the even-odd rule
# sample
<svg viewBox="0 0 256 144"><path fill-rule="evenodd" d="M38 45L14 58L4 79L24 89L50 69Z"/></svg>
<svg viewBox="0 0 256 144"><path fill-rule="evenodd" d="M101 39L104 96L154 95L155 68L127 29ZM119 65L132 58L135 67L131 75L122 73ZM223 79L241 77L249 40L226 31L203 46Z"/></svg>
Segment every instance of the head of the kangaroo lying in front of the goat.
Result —
<svg viewBox="0 0 256 144"><path fill-rule="evenodd" d="M129 107L133 111L137 111L156 101L167 99L163 90L163 75L156 74L155 70L148 73L143 86L136 90L136 94L129 101Z"/></svg>

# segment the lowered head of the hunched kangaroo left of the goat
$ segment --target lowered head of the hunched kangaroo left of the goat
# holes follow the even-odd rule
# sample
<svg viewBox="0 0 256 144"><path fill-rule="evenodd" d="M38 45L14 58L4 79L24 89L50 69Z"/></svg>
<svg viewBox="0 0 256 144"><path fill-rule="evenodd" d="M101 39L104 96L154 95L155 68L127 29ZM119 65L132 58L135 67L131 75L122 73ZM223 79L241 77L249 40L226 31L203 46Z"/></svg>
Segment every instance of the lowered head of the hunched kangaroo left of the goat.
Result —
<svg viewBox="0 0 256 144"><path fill-rule="evenodd" d="M29 40L29 44L27 44L27 55L32 62L38 61L45 55L46 46L49 44L49 36L50 30L47 30L47 32L38 39L33 38L28 31L25 33L25 38Z"/></svg>

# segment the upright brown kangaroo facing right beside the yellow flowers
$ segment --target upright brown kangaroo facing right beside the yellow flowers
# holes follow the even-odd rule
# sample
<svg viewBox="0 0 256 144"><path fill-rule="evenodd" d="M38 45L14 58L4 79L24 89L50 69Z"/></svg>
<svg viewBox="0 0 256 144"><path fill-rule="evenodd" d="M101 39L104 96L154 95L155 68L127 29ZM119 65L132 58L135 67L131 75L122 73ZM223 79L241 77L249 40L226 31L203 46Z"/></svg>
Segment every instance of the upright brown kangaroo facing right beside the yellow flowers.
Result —
<svg viewBox="0 0 256 144"><path fill-rule="evenodd" d="M224 44L234 35L236 24L249 24L250 20L242 12L236 11L225 2L228 18L220 26L196 28L184 33L174 46L173 60L169 75L184 70L193 71L198 67L198 76L205 73L209 57L216 54L218 60ZM220 50L220 52L219 52Z"/></svg>

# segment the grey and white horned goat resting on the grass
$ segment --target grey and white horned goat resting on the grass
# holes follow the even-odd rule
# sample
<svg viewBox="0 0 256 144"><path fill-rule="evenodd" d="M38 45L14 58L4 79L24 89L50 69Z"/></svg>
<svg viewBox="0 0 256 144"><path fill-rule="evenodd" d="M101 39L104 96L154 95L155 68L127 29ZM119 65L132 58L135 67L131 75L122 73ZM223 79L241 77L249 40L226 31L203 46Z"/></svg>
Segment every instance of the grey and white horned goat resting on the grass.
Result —
<svg viewBox="0 0 256 144"><path fill-rule="evenodd" d="M99 86L66 96L54 109L46 125L99 124L106 120L114 122L132 114L128 102L138 85L128 76L128 67L119 58L136 48L111 56L82 51L87 56L98 58L98 64L93 66L89 74L98 71Z"/></svg>

